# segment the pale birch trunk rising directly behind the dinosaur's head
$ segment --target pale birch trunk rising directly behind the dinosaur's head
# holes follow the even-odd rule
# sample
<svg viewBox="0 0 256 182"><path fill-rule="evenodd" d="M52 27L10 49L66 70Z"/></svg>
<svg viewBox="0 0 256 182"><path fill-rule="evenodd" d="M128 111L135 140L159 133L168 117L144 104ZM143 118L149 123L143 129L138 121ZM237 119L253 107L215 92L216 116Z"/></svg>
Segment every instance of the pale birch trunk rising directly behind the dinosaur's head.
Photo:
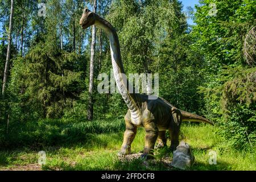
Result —
<svg viewBox="0 0 256 182"><path fill-rule="evenodd" d="M97 10L97 0L93 1L93 12ZM96 43L96 26L92 26L92 44L90 49L90 80L89 80L89 103L88 103L88 120L93 119L93 72L94 72L94 57L95 57L95 43Z"/></svg>

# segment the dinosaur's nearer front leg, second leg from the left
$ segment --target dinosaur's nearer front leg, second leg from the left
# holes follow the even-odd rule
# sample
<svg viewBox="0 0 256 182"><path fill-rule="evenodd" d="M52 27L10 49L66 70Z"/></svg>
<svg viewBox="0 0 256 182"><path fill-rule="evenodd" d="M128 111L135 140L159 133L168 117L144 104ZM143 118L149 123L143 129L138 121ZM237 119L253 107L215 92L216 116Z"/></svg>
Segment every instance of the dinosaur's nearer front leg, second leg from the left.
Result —
<svg viewBox="0 0 256 182"><path fill-rule="evenodd" d="M146 135L142 158L149 159L154 155L152 150L154 149L156 139L158 138L158 127L151 121L144 125L144 128L146 130Z"/></svg>

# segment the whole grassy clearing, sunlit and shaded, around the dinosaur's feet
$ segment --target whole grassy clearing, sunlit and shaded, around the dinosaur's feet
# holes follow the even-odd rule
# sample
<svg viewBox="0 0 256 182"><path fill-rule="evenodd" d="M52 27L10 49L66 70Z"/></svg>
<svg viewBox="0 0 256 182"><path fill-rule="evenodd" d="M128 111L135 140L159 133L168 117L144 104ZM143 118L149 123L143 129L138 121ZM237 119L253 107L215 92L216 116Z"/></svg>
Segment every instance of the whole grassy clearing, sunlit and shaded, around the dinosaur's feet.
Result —
<svg viewBox="0 0 256 182"><path fill-rule="evenodd" d="M162 161L166 156L172 159L168 148L156 151L154 161L119 160L117 152L125 130L122 119L93 122L48 119L26 123L26 127L16 130L19 133L9 133L7 142L18 142L19 148L6 150L1 146L0 170L34 167L46 170L176 170L170 167L170 162ZM180 138L191 145L195 155L190 170L256 170L255 151L238 151L226 145L215 131L214 127L204 124L183 123L181 126ZM131 145L132 152L142 151L144 135L144 129L139 128ZM170 146L170 140L167 144ZM37 162L39 150L46 151L47 155L43 167ZM208 162L212 150L217 153L216 165Z"/></svg>

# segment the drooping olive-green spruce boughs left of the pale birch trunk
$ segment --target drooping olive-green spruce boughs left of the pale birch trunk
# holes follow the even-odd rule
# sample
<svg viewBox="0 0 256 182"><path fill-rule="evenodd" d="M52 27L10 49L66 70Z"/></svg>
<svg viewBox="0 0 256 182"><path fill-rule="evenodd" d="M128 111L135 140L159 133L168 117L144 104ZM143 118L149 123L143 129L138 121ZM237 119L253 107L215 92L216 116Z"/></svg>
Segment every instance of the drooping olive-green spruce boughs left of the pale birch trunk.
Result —
<svg viewBox="0 0 256 182"><path fill-rule="evenodd" d="M16 60L11 69L12 98L16 97L22 105L37 105L42 110L41 117L60 117L83 87L81 72L73 65L79 59L38 44L24 59Z"/></svg>

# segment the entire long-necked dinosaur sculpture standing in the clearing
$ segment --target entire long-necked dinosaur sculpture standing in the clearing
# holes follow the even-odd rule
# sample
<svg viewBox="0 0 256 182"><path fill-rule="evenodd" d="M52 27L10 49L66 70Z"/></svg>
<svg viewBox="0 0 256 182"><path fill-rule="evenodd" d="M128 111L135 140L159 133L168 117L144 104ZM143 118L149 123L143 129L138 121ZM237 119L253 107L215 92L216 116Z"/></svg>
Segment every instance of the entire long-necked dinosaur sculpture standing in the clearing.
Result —
<svg viewBox="0 0 256 182"><path fill-rule="evenodd" d="M148 99L149 96L145 94L134 93L134 90L131 92L123 69L117 32L112 24L104 18L101 18L88 9L84 9L80 19L81 27L86 29L93 24L101 28L110 40L115 82L123 100L129 108L125 115L126 131L121 150L118 152L119 156L131 153L131 143L135 138L137 127L144 127L146 130L142 157L147 158L152 155L152 149L154 149L157 138L160 145L166 145L166 130L170 131L171 150L176 149L179 145L181 121L197 121L213 125L206 118L176 109L176 107L172 106L163 98L157 97L155 100L150 100Z"/></svg>

